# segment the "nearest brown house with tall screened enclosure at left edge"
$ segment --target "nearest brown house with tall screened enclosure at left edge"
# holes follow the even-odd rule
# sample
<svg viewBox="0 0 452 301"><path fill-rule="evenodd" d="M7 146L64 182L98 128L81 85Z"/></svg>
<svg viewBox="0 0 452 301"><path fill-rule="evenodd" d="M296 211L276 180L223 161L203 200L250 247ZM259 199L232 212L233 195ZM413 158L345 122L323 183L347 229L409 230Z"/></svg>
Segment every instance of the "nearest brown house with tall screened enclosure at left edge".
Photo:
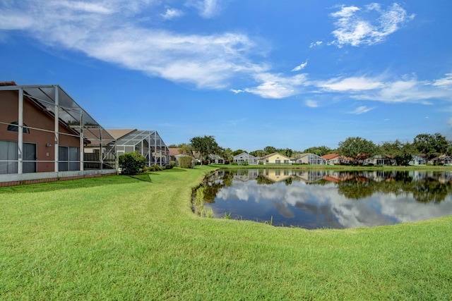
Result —
<svg viewBox="0 0 452 301"><path fill-rule="evenodd" d="M59 85L0 82L1 185L116 174L115 149L114 137Z"/></svg>

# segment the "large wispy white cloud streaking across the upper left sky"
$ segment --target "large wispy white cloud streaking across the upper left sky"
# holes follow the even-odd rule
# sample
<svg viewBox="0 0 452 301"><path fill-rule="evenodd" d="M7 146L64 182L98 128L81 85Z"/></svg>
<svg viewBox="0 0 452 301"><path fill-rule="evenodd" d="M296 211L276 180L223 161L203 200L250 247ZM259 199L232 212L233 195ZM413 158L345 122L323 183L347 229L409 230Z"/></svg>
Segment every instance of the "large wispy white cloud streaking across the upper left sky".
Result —
<svg viewBox="0 0 452 301"><path fill-rule="evenodd" d="M87 56L116 63L174 82L196 87L225 88L237 75L253 77L266 70L251 63L258 53L246 35L183 35L155 27L143 27L138 16L160 5L150 0L100 1L97 4L35 0L3 7L0 30L25 30L52 47L81 51ZM203 1L205 12L213 12L217 1ZM177 11L166 11L176 16ZM42 22L46 20L46 22Z"/></svg>

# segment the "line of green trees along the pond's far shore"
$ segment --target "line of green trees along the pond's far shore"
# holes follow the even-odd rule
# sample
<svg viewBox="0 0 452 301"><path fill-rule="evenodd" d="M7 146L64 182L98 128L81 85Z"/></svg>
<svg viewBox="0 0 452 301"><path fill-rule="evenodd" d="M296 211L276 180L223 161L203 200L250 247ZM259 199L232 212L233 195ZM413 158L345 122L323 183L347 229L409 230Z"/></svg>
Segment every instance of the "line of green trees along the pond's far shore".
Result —
<svg viewBox="0 0 452 301"><path fill-rule="evenodd" d="M209 161L210 155L215 154L225 159L225 163L232 162L234 156L246 152L244 149L232 150L229 147L223 148L215 141L212 135L205 135L203 137L197 136L190 140L189 144L182 143L180 145L169 145L169 147L177 147L181 154L188 154L193 156L194 152L200 154L200 160ZM331 149L326 146L309 147L304 151L296 151L289 148L280 149L272 146L257 149L252 152L246 152L252 156L262 157L268 154L278 152L288 157L298 159L301 154L311 153L318 156L326 154L340 154L357 161L360 156L367 157L376 154L390 156L396 161L397 165L408 165L408 162L414 155L422 155L428 161L441 154L452 154L452 142L446 140L446 137L440 133L435 134L420 134L417 135L412 142L409 141L388 141L380 144L375 144L371 140L362 137L348 137L346 140L338 143L338 148Z"/></svg>

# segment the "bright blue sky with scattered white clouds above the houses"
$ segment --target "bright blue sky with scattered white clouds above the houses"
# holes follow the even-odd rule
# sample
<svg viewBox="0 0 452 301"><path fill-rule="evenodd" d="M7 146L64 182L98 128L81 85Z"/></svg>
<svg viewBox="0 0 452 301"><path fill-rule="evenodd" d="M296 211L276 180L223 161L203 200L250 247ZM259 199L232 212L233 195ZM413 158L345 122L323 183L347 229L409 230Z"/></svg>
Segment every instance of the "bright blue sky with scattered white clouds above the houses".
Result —
<svg viewBox="0 0 452 301"><path fill-rule="evenodd" d="M452 1L0 0L0 81L167 145L452 139Z"/></svg>

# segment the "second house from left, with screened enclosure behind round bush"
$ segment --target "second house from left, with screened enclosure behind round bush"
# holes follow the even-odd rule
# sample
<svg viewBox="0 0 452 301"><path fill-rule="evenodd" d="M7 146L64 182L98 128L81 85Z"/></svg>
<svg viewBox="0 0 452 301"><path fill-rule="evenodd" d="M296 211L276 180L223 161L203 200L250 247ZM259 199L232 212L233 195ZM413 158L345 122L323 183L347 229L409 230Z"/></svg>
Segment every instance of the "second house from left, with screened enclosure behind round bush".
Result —
<svg viewBox="0 0 452 301"><path fill-rule="evenodd" d="M116 139L117 155L139 152L146 159L146 166L166 166L170 162L168 147L155 130L111 129Z"/></svg>

